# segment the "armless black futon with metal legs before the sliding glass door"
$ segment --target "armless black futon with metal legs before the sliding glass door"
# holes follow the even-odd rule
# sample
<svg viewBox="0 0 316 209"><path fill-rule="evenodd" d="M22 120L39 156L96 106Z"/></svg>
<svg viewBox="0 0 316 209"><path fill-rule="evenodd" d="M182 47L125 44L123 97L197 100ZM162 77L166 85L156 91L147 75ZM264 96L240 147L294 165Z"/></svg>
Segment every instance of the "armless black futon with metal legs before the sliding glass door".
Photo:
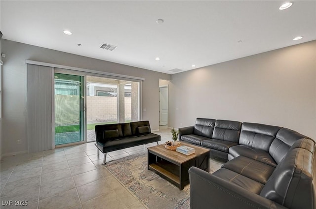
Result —
<svg viewBox="0 0 316 209"><path fill-rule="evenodd" d="M104 153L103 165L106 164L107 152L130 148L160 141L160 136L151 132L149 121L117 123L95 126L98 155Z"/></svg>

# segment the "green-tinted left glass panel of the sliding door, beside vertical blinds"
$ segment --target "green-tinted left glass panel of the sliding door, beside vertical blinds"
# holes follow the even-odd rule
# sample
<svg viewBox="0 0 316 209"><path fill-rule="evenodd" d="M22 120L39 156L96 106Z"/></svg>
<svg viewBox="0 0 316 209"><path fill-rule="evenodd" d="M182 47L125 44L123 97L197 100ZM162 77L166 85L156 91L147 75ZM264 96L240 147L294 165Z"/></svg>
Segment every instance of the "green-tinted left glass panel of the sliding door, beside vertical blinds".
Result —
<svg viewBox="0 0 316 209"><path fill-rule="evenodd" d="M84 141L83 76L55 73L55 145Z"/></svg>

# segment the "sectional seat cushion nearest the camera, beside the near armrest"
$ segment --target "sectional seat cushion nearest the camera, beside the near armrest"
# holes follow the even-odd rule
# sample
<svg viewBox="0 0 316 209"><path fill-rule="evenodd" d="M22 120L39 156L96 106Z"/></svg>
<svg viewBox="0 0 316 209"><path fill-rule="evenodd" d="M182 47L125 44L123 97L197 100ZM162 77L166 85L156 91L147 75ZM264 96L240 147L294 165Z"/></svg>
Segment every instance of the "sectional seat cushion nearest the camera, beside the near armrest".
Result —
<svg viewBox="0 0 316 209"><path fill-rule="evenodd" d="M249 179L245 176L242 176L234 171L228 170L226 168L221 168L217 171L215 171L212 175L219 177L221 179L227 180L231 183L236 184L237 186L240 186L241 188L244 188L250 192L253 192L255 194L260 194L263 184L258 183L255 180Z"/></svg>

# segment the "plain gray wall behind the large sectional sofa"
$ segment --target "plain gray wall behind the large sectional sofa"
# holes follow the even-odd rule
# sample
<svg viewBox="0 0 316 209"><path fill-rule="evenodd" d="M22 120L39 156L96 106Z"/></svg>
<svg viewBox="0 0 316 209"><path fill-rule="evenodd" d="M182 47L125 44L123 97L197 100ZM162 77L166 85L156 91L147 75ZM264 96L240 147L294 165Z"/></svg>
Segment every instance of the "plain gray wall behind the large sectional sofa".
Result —
<svg viewBox="0 0 316 209"><path fill-rule="evenodd" d="M169 90L170 126L227 119L316 140L316 41L174 74Z"/></svg>

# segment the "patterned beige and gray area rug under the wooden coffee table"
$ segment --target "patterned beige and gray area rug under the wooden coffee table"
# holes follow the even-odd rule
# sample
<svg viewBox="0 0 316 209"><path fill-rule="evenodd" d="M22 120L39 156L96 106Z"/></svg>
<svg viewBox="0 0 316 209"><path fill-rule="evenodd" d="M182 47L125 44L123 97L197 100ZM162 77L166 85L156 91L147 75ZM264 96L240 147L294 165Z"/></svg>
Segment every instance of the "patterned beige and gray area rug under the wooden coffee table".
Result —
<svg viewBox="0 0 316 209"><path fill-rule="evenodd" d="M147 170L147 152L111 161L104 167L149 209L190 209L190 185L180 191Z"/></svg>

